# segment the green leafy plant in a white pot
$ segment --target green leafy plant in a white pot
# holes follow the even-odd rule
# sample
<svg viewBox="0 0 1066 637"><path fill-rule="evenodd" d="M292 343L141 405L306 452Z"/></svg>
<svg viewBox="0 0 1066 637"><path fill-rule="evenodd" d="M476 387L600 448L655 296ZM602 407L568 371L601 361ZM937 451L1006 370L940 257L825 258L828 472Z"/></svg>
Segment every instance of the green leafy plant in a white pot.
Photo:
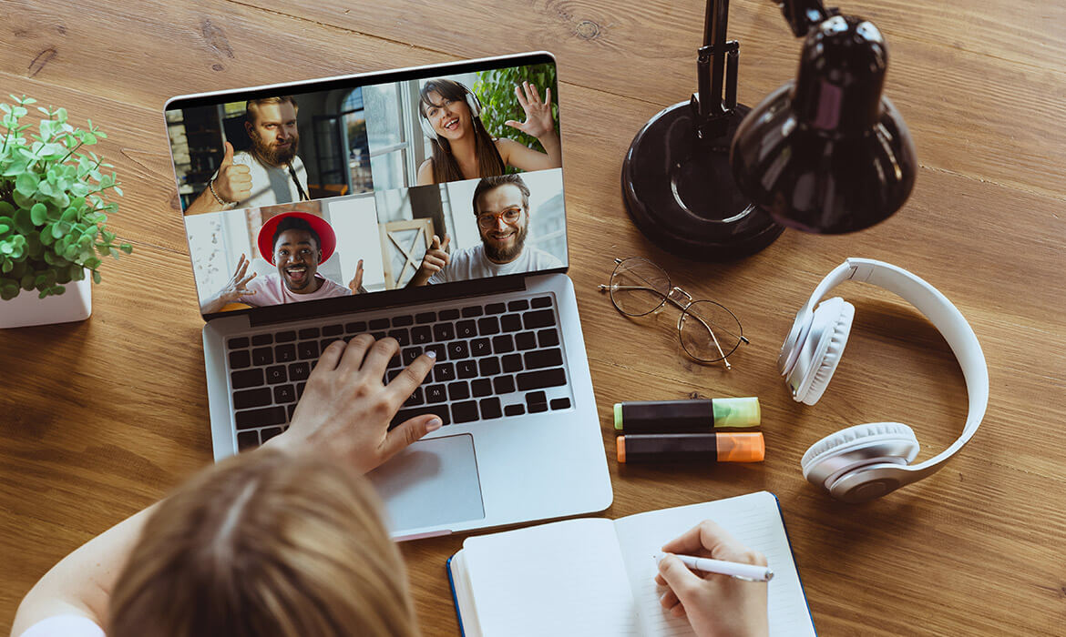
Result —
<svg viewBox="0 0 1066 637"><path fill-rule="evenodd" d="M36 100L11 97L0 103L0 327L81 321L92 312L87 277L99 283L104 257L132 251L106 226L118 205L104 197L123 194L101 173L113 166L82 150L107 135L42 107L34 132L21 121Z"/></svg>

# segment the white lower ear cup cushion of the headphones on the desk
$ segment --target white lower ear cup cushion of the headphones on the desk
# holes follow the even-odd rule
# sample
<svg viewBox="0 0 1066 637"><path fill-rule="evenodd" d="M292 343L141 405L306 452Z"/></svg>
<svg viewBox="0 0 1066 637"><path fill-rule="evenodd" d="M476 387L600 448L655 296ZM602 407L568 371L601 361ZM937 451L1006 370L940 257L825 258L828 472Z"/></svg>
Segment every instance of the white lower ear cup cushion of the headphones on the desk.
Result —
<svg viewBox="0 0 1066 637"><path fill-rule="evenodd" d="M800 460L803 476L829 488L841 474L865 464L907 464L921 445L915 431L903 423L869 423L830 434L810 445Z"/></svg>

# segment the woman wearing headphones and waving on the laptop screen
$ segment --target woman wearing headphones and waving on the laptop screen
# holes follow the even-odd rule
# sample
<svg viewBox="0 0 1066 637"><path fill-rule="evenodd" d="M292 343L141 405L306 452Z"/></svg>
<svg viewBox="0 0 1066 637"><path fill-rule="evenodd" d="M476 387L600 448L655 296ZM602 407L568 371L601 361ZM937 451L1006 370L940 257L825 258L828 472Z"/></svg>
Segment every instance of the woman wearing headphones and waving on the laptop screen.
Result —
<svg viewBox="0 0 1066 637"><path fill-rule="evenodd" d="M494 140L481 123L481 103L469 88L439 78L422 86L419 123L430 138L433 157L418 167L418 185L503 175L508 166L520 170L546 170L563 165L563 148L551 117L551 88L544 101L536 86L515 86L526 121L505 124L534 136L547 152L499 137Z"/></svg>

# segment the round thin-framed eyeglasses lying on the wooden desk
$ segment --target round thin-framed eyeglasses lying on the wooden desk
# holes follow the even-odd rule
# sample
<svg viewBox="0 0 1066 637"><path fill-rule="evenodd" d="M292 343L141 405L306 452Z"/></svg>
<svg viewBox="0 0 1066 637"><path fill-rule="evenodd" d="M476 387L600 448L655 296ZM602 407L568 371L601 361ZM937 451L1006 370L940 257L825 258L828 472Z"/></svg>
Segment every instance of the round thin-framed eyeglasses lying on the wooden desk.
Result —
<svg viewBox="0 0 1066 637"><path fill-rule="evenodd" d="M732 369L728 357L741 343L748 343L732 312L713 300L693 300L691 294L671 285L666 271L647 259L614 261L611 282L599 290L610 293L615 309L627 316L644 316L669 303L681 310L677 332L685 353L700 362L721 360L727 370Z"/></svg>

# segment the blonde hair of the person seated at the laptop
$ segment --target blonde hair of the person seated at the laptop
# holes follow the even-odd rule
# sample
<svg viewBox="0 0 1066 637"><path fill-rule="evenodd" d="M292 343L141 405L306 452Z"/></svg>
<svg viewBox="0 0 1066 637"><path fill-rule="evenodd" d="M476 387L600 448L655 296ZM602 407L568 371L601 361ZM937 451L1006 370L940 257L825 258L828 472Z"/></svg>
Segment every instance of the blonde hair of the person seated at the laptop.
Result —
<svg viewBox="0 0 1066 637"><path fill-rule="evenodd" d="M260 450L159 505L111 597L109 637L416 635L369 483Z"/></svg>

